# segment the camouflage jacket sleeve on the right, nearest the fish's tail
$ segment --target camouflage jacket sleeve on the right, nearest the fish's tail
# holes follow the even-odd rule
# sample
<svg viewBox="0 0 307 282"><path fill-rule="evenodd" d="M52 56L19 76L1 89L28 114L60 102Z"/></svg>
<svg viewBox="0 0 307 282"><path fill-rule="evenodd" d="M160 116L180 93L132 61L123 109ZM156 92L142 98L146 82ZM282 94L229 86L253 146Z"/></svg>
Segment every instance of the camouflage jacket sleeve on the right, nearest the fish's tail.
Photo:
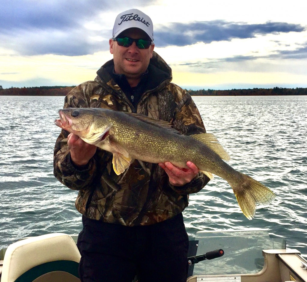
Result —
<svg viewBox="0 0 307 282"><path fill-rule="evenodd" d="M175 84L171 84L174 88L171 90L175 91L177 95L177 111L173 118L173 126L180 131L182 134L200 134L206 133L204 123L200 117L200 113L192 100L192 97L182 88ZM208 182L208 176L199 172L191 182L186 183L183 186L171 186L180 195L187 195L192 193L197 193L200 191Z"/></svg>

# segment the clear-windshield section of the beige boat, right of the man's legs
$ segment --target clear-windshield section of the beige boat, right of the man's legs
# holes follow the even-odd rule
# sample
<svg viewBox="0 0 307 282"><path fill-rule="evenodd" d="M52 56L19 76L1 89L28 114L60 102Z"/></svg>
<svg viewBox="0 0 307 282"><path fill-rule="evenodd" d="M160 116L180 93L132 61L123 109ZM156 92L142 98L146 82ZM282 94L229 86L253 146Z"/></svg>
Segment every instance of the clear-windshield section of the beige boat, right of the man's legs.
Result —
<svg viewBox="0 0 307 282"><path fill-rule="evenodd" d="M199 231L194 244L197 254L208 247L223 249L225 254L195 264L188 282L307 282L305 257L286 248L286 241L268 230Z"/></svg>

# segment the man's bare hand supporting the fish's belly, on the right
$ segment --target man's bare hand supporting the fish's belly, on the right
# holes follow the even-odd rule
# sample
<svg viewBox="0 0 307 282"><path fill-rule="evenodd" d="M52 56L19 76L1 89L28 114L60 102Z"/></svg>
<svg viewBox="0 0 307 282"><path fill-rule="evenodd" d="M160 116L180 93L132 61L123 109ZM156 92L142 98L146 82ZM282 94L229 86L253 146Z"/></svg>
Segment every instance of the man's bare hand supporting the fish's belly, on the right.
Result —
<svg viewBox="0 0 307 282"><path fill-rule="evenodd" d="M188 168L177 168L170 162L160 163L159 166L165 170L169 176L169 183L174 186L182 186L189 183L199 172L195 164L188 161Z"/></svg>

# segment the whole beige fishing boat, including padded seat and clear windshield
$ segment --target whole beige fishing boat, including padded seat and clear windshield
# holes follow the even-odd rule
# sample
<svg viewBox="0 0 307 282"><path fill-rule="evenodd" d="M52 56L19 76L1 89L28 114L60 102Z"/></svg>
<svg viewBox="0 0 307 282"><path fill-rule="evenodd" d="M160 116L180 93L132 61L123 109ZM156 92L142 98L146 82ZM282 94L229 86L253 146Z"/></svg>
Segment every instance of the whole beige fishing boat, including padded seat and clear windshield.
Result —
<svg viewBox="0 0 307 282"><path fill-rule="evenodd" d="M0 250L0 282L80 282L76 240L46 234ZM307 282L304 255L267 230L198 231L189 243L187 282Z"/></svg>

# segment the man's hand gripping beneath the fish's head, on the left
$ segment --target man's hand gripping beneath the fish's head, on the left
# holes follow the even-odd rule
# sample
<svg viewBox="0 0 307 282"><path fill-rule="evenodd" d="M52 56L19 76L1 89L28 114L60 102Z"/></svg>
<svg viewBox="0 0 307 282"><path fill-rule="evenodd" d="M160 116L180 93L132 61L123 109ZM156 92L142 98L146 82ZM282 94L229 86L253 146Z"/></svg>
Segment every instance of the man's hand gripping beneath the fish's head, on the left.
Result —
<svg viewBox="0 0 307 282"><path fill-rule="evenodd" d="M67 138L72 162L76 166L86 165L92 156L95 155L97 147L87 144L78 135L73 133L70 133Z"/></svg>

